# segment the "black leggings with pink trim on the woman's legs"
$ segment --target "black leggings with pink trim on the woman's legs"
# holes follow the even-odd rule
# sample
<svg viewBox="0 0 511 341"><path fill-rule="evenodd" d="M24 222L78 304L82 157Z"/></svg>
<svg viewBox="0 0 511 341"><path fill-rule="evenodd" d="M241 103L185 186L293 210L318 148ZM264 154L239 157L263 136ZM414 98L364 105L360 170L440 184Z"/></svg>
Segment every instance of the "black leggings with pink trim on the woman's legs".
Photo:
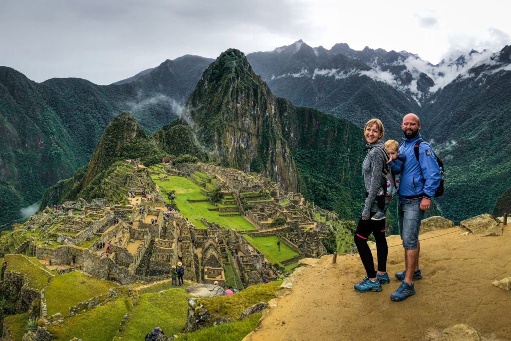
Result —
<svg viewBox="0 0 511 341"><path fill-rule="evenodd" d="M374 213L371 212L371 216ZM375 278L375 264L373 263L373 254L371 249L367 245L367 238L373 233L376 241L376 254L378 256L378 271L387 271L387 255L388 246L387 239L385 239L385 219L382 220L362 220L360 218L357 226L357 232L355 233L355 245L357 245L358 253L362 264L364 264L367 277Z"/></svg>

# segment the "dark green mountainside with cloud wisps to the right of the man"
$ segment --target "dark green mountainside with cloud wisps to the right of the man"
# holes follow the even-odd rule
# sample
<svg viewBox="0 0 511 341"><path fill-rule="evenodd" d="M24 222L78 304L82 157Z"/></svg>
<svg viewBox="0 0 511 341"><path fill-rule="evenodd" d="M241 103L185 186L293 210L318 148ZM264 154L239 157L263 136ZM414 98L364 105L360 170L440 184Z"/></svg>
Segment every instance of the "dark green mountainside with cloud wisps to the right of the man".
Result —
<svg viewBox="0 0 511 341"><path fill-rule="evenodd" d="M446 191L438 204L451 219L492 213L511 187L511 132L505 124L511 115L510 55L511 47L504 48L423 109L427 137L446 165Z"/></svg>

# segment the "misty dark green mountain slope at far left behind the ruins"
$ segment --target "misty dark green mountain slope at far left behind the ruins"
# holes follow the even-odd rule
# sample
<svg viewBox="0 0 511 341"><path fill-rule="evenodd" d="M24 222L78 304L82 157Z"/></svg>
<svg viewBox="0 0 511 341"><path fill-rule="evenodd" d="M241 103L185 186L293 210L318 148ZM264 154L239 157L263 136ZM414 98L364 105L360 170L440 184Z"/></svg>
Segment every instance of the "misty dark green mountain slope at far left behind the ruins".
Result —
<svg viewBox="0 0 511 341"><path fill-rule="evenodd" d="M77 78L35 83L0 66L0 225L87 164L119 112L132 111L151 132L176 118L210 62L183 56L135 81L106 86Z"/></svg>

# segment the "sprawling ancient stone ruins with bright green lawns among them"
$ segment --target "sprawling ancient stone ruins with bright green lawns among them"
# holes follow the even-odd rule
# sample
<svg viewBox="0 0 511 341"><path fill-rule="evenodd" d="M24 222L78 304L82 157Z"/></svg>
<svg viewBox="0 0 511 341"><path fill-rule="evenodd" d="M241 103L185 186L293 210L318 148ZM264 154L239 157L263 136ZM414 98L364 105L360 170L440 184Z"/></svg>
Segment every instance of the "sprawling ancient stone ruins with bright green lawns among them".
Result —
<svg viewBox="0 0 511 341"><path fill-rule="evenodd" d="M4 233L3 252L120 284L170 278L181 262L185 280L243 289L325 255L338 222L263 176L207 164L127 160L107 185L106 198L45 208Z"/></svg>

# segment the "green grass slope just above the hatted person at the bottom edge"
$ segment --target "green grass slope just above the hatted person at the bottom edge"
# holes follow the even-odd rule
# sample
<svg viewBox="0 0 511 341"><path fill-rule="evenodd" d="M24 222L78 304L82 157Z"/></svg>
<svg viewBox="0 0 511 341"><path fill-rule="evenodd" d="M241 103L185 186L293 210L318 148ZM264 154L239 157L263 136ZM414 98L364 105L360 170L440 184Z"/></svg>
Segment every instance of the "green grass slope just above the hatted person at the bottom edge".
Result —
<svg viewBox="0 0 511 341"><path fill-rule="evenodd" d="M143 340L154 327L169 336L179 333L187 320L189 297L182 287L142 294L115 339Z"/></svg>

